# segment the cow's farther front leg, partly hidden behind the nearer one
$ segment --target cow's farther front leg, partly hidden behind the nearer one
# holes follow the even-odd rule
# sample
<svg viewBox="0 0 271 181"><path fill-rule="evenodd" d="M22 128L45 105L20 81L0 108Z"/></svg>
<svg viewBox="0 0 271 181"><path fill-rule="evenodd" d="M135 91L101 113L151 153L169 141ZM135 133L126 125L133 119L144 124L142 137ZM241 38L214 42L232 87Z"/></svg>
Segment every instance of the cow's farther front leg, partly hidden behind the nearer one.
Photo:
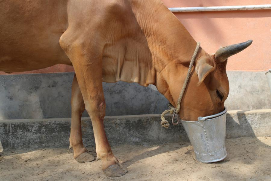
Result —
<svg viewBox="0 0 271 181"><path fill-rule="evenodd" d="M73 157L78 162L91 162L95 160L83 145L81 132L81 117L85 110L83 96L79 89L76 75L73 78L71 96L71 127L70 127L70 148L73 148Z"/></svg>

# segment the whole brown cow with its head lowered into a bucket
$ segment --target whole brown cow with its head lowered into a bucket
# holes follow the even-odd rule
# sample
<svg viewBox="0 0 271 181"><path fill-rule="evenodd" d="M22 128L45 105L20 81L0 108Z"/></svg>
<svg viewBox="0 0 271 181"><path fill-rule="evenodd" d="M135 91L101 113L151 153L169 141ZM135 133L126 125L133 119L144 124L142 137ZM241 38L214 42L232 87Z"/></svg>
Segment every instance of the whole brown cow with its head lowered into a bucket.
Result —
<svg viewBox="0 0 271 181"><path fill-rule="evenodd" d="M200 49L179 116L197 120L223 110L229 94L227 58L251 40L209 55ZM94 160L83 146L81 115L92 120L98 159L108 176L121 176L105 132L104 82L154 84L176 106L196 41L160 0L2 0L0 71L72 65L70 147L78 162Z"/></svg>

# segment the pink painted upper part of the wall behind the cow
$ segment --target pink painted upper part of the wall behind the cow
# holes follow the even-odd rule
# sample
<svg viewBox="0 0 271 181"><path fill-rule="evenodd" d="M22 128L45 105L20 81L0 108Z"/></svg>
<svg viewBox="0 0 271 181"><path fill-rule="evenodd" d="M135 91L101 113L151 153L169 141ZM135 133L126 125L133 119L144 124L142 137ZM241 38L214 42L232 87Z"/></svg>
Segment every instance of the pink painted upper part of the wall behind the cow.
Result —
<svg viewBox="0 0 271 181"><path fill-rule="evenodd" d="M167 7L229 6L270 4L270 0L162 0ZM229 58L227 70L266 71L271 68L271 10L175 13L201 47L214 53L222 46L252 39L243 52ZM157 14L159 16L159 14ZM67 65L23 73L73 71ZM0 74L5 74L0 72Z"/></svg>

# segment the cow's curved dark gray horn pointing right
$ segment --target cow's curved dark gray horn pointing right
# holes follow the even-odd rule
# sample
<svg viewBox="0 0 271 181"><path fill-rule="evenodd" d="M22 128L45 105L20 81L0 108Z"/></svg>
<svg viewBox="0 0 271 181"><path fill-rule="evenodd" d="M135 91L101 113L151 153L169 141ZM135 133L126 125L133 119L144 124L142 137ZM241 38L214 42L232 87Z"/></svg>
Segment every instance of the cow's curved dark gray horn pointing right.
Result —
<svg viewBox="0 0 271 181"><path fill-rule="evenodd" d="M252 40L248 40L243 43L238 43L234 45L225 46L223 48L220 48L215 53L215 58L219 60L220 62L224 62L227 58L230 56L241 52L243 49L250 46L252 43Z"/></svg>

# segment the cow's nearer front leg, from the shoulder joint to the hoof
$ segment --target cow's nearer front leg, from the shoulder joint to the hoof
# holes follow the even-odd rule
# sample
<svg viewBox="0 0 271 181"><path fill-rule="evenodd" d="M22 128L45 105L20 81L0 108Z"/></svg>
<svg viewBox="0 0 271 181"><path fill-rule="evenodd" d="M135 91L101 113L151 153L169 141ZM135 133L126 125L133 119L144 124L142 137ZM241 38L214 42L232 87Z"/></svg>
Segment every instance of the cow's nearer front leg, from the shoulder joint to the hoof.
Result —
<svg viewBox="0 0 271 181"><path fill-rule="evenodd" d="M122 176L127 170L121 166L112 153L104 131L105 101L102 87L102 49L90 47L91 43L85 41L93 40L92 38L82 37L83 39L78 43L78 39L67 40L73 38L74 33L71 33L70 36L68 32L65 33L61 37L60 44L73 64L86 111L92 121L97 157L102 161L101 168L107 176Z"/></svg>

